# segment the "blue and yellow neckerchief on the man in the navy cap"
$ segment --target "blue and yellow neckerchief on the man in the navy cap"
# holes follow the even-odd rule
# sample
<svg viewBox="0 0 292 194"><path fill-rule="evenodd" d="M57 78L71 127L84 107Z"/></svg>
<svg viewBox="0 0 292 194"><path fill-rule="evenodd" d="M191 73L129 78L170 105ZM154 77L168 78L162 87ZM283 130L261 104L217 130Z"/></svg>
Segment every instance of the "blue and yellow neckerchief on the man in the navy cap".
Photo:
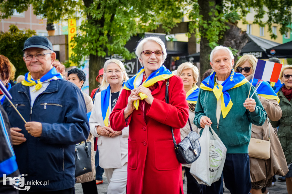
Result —
<svg viewBox="0 0 292 194"><path fill-rule="evenodd" d="M48 73L46 73L43 77L41 77L41 79L39 80L34 80L32 79L31 77L31 74L30 72L26 73L25 76L24 76L24 80L21 82L22 85L24 86L33 86L35 85L35 90L39 90L41 89L41 83L44 83L44 82L50 82L50 81L53 81L53 80L63 80L63 76L61 73L57 73L57 70L55 67L52 66L52 69L49 70Z"/></svg>

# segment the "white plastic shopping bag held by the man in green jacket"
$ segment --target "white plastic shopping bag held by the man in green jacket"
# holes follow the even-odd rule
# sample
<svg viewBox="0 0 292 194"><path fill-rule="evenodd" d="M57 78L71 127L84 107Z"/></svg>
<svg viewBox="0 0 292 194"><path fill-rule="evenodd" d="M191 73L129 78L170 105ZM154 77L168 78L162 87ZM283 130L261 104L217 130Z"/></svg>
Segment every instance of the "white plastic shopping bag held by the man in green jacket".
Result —
<svg viewBox="0 0 292 194"><path fill-rule="evenodd" d="M215 131L212 133L206 125L199 139L201 145L200 157L192 163L190 173L199 184L210 186L221 177L227 149Z"/></svg>

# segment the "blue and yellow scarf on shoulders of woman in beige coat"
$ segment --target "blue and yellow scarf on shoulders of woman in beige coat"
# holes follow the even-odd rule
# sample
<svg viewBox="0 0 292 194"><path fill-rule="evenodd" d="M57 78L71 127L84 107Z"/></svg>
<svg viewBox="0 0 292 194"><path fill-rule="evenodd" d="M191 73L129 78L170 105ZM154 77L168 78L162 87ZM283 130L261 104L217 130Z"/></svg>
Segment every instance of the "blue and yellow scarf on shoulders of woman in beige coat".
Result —
<svg viewBox="0 0 292 194"><path fill-rule="evenodd" d="M262 83L259 85L260 81ZM277 100L278 103L280 102L279 97L277 96L277 94L275 93L275 91L272 89L272 87L270 86L270 84L267 81L253 79L252 84L254 87L256 87L256 88L258 87L258 89L256 91L258 92L259 96L263 96L266 99Z"/></svg>

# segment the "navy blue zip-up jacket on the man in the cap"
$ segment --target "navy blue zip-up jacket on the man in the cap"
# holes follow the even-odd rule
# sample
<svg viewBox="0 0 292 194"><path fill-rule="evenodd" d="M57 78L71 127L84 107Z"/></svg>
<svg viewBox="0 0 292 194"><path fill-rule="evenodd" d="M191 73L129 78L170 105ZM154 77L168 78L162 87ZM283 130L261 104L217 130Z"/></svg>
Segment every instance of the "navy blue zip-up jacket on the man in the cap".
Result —
<svg viewBox="0 0 292 194"><path fill-rule="evenodd" d="M74 144L87 139L89 125L81 90L66 80L51 81L47 89L30 103L29 87L21 83L9 90L12 103L24 119L42 123L41 137L25 130L25 123L7 99L3 107L11 127L21 128L27 139L14 145L19 171L25 181L48 181L48 185L30 185L29 191L58 191L75 185ZM28 176L26 176L28 175Z"/></svg>

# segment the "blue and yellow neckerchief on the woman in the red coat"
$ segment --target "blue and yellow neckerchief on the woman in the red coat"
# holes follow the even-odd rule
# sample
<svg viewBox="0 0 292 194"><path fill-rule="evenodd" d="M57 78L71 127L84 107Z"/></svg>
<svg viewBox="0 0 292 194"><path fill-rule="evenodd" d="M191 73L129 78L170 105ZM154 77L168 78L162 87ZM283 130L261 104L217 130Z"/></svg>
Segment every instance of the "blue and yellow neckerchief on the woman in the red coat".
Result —
<svg viewBox="0 0 292 194"><path fill-rule="evenodd" d="M126 84L124 85L124 89L132 90L134 88L138 88L139 85L142 83L144 71L145 71L144 67L142 67L136 75L131 77L131 79L129 79L126 82ZM169 77L172 77L173 75L174 75L174 73L171 73L168 69L166 69L166 67L164 65L162 65L162 66L160 66L159 69L157 69L156 71L151 73L149 75L149 77L147 77L147 79L141 85L147 88L149 86L152 86L156 82L161 81L161 80L166 80ZM142 94L142 93L139 93L139 96L141 97L141 100L148 97L147 95ZM139 100L134 101L134 106L135 106L136 110L138 110Z"/></svg>

